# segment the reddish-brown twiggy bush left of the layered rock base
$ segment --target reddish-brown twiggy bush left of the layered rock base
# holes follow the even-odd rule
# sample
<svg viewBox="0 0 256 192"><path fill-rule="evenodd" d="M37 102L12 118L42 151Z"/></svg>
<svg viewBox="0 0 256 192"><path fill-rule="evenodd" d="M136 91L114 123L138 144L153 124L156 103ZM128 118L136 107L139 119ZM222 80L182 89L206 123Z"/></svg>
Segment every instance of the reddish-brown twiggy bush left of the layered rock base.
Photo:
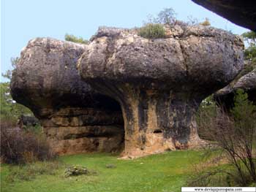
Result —
<svg viewBox="0 0 256 192"><path fill-rule="evenodd" d="M25 164L55 157L41 133L12 128L1 122L1 161L4 163Z"/></svg>

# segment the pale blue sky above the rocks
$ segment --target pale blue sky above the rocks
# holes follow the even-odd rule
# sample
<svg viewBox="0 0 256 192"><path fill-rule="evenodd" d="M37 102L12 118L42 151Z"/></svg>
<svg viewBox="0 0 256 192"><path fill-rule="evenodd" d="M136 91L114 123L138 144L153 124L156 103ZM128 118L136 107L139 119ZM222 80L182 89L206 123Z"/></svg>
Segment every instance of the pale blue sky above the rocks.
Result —
<svg viewBox="0 0 256 192"><path fill-rule="evenodd" d="M209 18L211 26L234 34L248 31L190 0L1 0L1 72L12 69L10 58L19 56L35 37L64 39L68 33L89 39L99 26L142 26L147 15L167 7L176 11L179 20L192 15L198 20Z"/></svg>

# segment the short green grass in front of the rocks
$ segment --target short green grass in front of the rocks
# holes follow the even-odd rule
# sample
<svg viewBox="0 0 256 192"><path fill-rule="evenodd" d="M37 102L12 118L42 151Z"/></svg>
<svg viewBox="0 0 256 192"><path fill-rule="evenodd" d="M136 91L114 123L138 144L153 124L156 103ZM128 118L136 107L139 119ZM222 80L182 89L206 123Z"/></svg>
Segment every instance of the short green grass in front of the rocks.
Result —
<svg viewBox="0 0 256 192"><path fill-rule="evenodd" d="M59 161L86 166L97 174L64 177L65 167L58 166L55 174L41 174L29 181L14 182L8 181L8 177L18 166L2 164L1 192L180 191L202 154L192 150L171 151L135 160L118 160L117 155L106 153L66 155ZM116 167L107 168L108 164Z"/></svg>

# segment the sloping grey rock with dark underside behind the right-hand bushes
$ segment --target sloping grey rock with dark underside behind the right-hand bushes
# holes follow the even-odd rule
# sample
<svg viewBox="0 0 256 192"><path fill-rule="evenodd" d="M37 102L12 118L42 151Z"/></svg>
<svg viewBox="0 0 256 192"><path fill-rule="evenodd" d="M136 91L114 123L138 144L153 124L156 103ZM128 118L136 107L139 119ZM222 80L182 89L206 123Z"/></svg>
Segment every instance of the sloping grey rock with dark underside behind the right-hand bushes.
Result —
<svg viewBox="0 0 256 192"><path fill-rule="evenodd" d="M234 96L238 88L243 89L247 93L249 101L256 105L256 69L217 91L214 94L214 99L228 112L234 106Z"/></svg>

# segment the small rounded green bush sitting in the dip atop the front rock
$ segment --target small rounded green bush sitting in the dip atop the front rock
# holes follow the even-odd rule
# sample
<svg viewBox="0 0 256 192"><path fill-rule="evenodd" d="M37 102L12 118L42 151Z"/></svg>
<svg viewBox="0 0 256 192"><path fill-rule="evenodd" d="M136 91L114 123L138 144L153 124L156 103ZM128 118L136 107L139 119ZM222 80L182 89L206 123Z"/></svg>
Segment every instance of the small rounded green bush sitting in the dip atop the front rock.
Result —
<svg viewBox="0 0 256 192"><path fill-rule="evenodd" d="M147 39L165 38L165 28L162 24L148 23L139 28L138 35Z"/></svg>

